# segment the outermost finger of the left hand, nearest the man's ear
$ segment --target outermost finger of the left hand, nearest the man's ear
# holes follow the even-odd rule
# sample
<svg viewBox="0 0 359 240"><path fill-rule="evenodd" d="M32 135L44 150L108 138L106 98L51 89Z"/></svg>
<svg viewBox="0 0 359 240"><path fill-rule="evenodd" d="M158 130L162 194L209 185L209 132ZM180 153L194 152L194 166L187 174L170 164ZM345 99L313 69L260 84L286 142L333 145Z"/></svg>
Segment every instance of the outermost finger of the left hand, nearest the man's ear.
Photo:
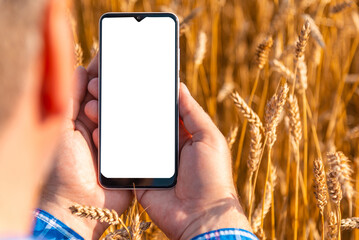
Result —
<svg viewBox="0 0 359 240"><path fill-rule="evenodd" d="M77 67L74 73L75 91L72 97L72 111L69 112L70 119L75 120L79 114L81 102L86 95L88 74L84 67Z"/></svg>

